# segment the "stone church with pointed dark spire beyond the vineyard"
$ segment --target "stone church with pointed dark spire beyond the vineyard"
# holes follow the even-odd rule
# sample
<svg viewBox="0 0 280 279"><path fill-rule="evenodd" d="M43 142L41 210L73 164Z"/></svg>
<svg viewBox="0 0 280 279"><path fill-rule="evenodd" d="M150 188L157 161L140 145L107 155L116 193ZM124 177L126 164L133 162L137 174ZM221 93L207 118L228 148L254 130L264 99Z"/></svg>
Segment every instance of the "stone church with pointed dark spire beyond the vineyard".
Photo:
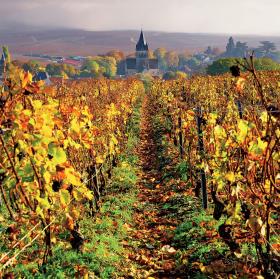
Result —
<svg viewBox="0 0 280 279"><path fill-rule="evenodd" d="M158 60L149 58L149 47L142 30L136 44L136 57L129 57L125 60L125 73L128 76L136 73L159 74Z"/></svg>

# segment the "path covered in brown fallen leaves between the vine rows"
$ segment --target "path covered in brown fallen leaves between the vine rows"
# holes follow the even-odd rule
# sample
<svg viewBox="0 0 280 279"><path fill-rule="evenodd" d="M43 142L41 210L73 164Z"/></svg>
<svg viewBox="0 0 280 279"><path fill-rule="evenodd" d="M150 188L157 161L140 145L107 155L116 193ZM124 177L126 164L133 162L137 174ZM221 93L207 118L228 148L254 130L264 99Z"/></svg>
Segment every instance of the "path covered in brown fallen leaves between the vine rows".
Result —
<svg viewBox="0 0 280 279"><path fill-rule="evenodd" d="M166 173L172 176L172 154L162 145L163 127L158 123L156 100L146 96L143 101L140 126L141 173L139 181L140 208L134 215L135 226L130 231L134 243L128 255L130 264L125 278L188 278L184 267L176 267L176 250L172 247L174 230L179 218L171 218L164 204L173 188L165 184Z"/></svg>

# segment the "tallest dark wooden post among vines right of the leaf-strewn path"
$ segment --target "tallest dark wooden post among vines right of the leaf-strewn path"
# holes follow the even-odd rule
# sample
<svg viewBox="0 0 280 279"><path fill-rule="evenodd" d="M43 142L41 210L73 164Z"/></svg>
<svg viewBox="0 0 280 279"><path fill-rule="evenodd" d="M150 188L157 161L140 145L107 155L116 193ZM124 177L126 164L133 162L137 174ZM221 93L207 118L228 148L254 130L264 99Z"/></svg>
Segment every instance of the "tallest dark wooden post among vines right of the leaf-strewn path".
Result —
<svg viewBox="0 0 280 279"><path fill-rule="evenodd" d="M202 117L201 117L201 108L196 108L196 124L197 124L197 134L198 134L198 151L200 156L204 155L204 145L203 145L203 135L202 135ZM206 175L203 168L200 168L200 184L202 192L202 204L203 208L207 209L208 199L207 199L207 189L206 189Z"/></svg>

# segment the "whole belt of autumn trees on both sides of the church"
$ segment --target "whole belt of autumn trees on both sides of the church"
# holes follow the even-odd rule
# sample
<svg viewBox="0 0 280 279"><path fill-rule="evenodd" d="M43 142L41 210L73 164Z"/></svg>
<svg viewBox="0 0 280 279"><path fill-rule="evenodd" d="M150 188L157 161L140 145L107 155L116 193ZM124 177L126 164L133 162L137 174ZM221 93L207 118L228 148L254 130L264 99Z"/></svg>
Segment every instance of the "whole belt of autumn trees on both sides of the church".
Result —
<svg viewBox="0 0 280 279"><path fill-rule="evenodd" d="M261 45L254 49L256 57L257 70L279 70L279 64L273 61L273 58L279 56L280 52L276 51L274 43L269 41L260 42ZM244 57L249 51L247 43L240 41L234 42L230 37L226 46L226 51L221 52L218 48L210 46L201 53L192 55L189 52L177 53L168 51L165 48L157 48L153 52L149 52L150 58L157 58L159 69L163 73L165 79L173 79L178 76L186 76L192 73L221 74L229 71L229 67L236 62L236 58ZM133 56L131 54L129 56ZM128 56L128 57L129 57ZM4 58L3 58L4 57ZM6 64L11 58L7 47L3 47L3 55L1 61L5 59ZM66 78L113 78L116 75L125 75L125 59L126 56L122 51L112 50L105 55L88 57L77 69L69 64L48 64L45 67L40 62L31 60L26 63L20 61L12 61L11 65L16 65L33 74L44 70L50 76L60 76ZM0 65L0 74L3 71L3 61Z"/></svg>

